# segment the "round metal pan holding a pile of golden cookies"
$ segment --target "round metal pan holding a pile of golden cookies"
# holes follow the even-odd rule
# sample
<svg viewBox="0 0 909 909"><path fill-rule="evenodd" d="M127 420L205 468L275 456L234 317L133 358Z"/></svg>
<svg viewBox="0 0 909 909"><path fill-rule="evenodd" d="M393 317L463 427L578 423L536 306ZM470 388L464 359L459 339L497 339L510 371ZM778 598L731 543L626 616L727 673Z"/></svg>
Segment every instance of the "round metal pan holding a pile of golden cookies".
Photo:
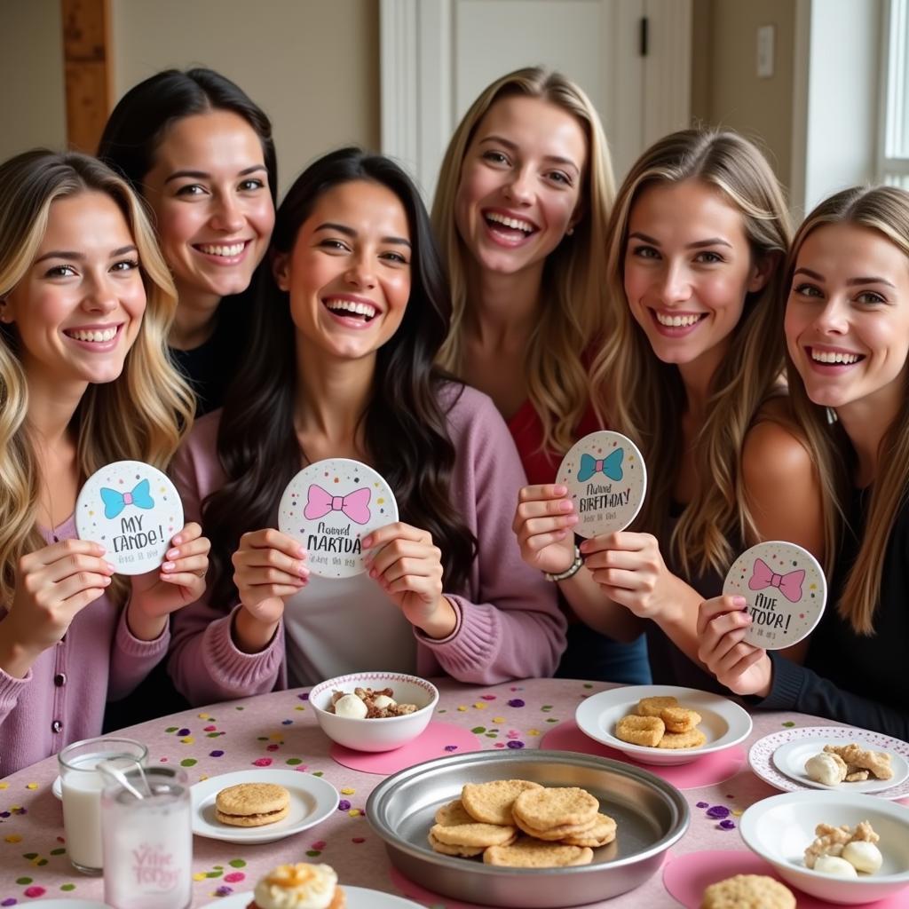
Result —
<svg viewBox="0 0 909 909"><path fill-rule="evenodd" d="M590 754L455 754L378 784L366 818L415 884L466 903L554 909L624 894L689 824L684 796Z"/></svg>

